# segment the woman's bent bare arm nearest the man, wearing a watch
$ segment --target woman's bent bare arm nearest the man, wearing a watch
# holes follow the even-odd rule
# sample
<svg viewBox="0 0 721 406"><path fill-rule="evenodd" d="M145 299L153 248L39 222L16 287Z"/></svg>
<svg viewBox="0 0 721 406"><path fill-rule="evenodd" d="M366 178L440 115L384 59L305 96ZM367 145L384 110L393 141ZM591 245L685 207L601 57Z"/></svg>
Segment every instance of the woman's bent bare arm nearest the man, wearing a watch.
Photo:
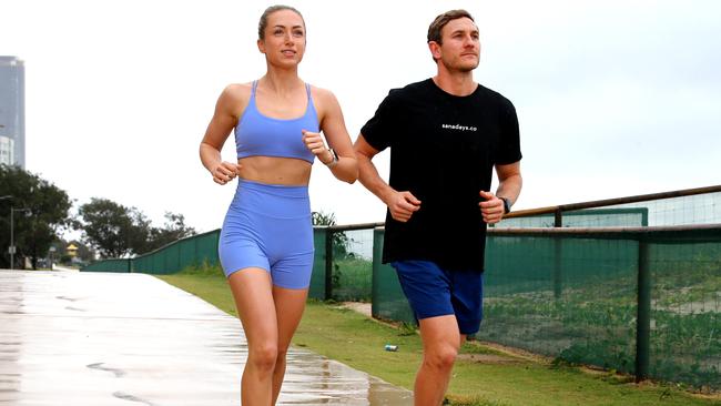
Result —
<svg viewBox="0 0 721 406"><path fill-rule="evenodd" d="M335 151L337 162L334 163L335 156L328 149L319 151L316 155L321 162L328 166L335 177L354 183L358 179L358 162L353 151L351 135L345 128L341 104L331 91L317 88L314 90L315 100L318 101L321 131L325 134L328 146Z"/></svg>

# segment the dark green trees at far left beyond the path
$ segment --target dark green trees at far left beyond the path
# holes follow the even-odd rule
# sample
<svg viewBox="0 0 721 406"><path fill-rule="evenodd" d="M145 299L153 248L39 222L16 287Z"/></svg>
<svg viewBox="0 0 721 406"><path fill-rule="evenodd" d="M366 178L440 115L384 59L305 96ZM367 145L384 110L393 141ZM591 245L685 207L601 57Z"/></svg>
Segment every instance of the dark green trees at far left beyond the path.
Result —
<svg viewBox="0 0 721 406"><path fill-rule="evenodd" d="M195 234L177 213L166 212L165 223L154 226L139 209L108 199L92 197L74 214L72 206L62 189L19 166L0 164L0 267L10 266L11 216L16 267L22 267L19 258L29 257L37 268L51 246L64 248L68 242L61 235L71 230L80 231L82 243L103 258L143 254Z"/></svg>

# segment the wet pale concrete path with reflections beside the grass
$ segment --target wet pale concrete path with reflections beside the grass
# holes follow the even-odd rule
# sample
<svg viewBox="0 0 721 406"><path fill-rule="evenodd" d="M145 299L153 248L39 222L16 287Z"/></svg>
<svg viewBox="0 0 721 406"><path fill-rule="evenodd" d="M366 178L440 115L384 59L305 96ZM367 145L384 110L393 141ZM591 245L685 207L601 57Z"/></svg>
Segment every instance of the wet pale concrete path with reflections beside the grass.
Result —
<svg viewBox="0 0 721 406"><path fill-rule="evenodd" d="M0 271L0 405L235 406L240 322L142 274ZM281 405L412 405L408 390L292 348Z"/></svg>

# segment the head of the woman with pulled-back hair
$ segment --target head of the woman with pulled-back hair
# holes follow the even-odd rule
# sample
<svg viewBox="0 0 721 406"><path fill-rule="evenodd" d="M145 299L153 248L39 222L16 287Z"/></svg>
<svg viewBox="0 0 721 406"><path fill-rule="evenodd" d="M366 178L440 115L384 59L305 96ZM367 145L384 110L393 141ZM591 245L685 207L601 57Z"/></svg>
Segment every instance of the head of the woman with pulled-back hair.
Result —
<svg viewBox="0 0 721 406"><path fill-rule="evenodd" d="M267 18L265 38L257 47L274 65L292 67L303 60L305 53L305 24L303 18L292 10L278 10Z"/></svg>

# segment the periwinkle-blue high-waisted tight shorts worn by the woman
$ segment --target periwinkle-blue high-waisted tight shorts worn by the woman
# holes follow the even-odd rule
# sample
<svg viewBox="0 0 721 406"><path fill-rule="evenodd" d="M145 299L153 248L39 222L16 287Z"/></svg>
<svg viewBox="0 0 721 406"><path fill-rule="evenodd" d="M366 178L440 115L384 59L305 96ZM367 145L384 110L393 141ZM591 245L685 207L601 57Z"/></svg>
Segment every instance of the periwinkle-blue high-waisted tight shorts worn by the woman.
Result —
<svg viewBox="0 0 721 406"><path fill-rule="evenodd" d="M307 288L314 253L308 187L238 180L217 251L225 276L260 267L276 286Z"/></svg>

